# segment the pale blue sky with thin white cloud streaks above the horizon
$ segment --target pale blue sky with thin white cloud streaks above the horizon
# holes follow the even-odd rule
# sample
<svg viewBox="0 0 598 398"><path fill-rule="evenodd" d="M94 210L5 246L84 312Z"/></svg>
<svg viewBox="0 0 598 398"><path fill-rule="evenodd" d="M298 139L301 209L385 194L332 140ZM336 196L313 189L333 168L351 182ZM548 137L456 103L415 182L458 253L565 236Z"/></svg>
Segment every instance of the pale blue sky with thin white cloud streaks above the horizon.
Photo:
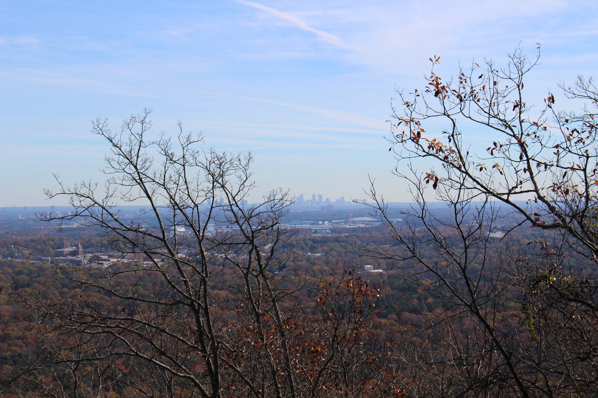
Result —
<svg viewBox="0 0 598 398"><path fill-rule="evenodd" d="M542 44L526 87L597 75L595 1L2 1L0 206L49 205L51 173L101 180L114 128L144 107L154 133L203 131L252 150L260 188L362 198L368 174L409 200L383 136L395 87L422 85L428 58L453 73ZM475 132L472 132L475 138ZM62 204L56 202L53 204Z"/></svg>

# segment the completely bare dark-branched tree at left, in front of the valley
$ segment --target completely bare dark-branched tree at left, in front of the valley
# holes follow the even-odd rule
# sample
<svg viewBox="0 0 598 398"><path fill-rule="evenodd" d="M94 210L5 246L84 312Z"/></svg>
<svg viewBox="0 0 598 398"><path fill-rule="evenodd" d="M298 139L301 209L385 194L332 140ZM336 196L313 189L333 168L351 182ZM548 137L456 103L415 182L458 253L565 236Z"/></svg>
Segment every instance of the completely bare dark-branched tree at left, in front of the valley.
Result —
<svg viewBox="0 0 598 398"><path fill-rule="evenodd" d="M263 396L274 388L279 396L293 396L294 375L274 276L288 259L280 246L292 232L283 228L280 217L292 198L274 190L263 202L249 204L255 186L249 172L251 153L198 148L202 137L185 134L180 123L174 139L161 135L148 140L150 127L148 110L124 121L118 132L97 119L93 132L105 138L112 151L106 157L103 189L97 183L67 187L58 181L59 192L46 191L48 198L67 196L74 211L60 217L41 214L41 220L97 227L123 261L72 267L60 273L73 283L68 297L27 301L51 326L42 339L47 350L56 351L50 336L63 340L59 352L39 366L68 366L68 395L86 395L78 388L77 370L87 366L97 373L88 385L96 393L129 388L139 396L219 397L227 388L240 388ZM145 221L132 221L118 209L121 203L139 200L149 205ZM142 254L146 261L127 261L127 254ZM226 267L234 270L228 277ZM245 326L264 346L257 366L268 381L227 361L236 350L228 340L237 331L225 325L235 316L236 303L214 294L219 280L230 282L248 307L244 315L251 323ZM98 306L102 299L93 295L105 296L106 305ZM266 315L273 319L268 330L263 325ZM266 343L271 332L280 341L276 351ZM32 374L31 369L24 371L21 377Z"/></svg>

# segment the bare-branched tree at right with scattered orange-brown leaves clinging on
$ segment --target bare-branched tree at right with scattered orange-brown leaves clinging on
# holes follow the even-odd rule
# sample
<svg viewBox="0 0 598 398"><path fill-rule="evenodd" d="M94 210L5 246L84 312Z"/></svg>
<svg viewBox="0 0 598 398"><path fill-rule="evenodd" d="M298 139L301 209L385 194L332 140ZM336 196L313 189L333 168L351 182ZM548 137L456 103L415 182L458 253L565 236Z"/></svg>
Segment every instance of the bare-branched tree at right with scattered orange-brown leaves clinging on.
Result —
<svg viewBox="0 0 598 398"><path fill-rule="evenodd" d="M437 75L440 57L430 59L425 88L398 91L388 138L394 172L410 183L417 203L404 212L407 223L393 221L371 188L373 213L401 250L368 254L393 260L399 277L443 304L414 326L419 338L428 337L427 350L403 345L404 362L421 377L412 391L524 397L594 391L598 90L579 76L573 87L560 87L566 98L587 103L581 112L557 111L551 92L535 108L524 78L539 53L529 60L517 48L504 69L472 63L449 80ZM488 143L476 149L473 134ZM429 206L430 192L450 217ZM522 226L536 228L533 245L509 240ZM495 244L493 232L505 237Z"/></svg>

